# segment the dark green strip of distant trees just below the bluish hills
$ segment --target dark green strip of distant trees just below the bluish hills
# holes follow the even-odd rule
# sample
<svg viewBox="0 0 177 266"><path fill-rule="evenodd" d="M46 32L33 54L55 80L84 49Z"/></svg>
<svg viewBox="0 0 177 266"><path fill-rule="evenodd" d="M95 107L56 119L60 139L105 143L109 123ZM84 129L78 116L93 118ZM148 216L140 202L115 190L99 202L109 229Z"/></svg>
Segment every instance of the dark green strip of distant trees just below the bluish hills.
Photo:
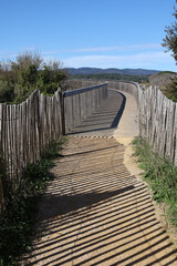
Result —
<svg viewBox="0 0 177 266"><path fill-rule="evenodd" d="M148 81L148 75L127 75L127 74L76 74L72 75L73 79L92 79L92 80L124 80L134 82L146 82Z"/></svg>

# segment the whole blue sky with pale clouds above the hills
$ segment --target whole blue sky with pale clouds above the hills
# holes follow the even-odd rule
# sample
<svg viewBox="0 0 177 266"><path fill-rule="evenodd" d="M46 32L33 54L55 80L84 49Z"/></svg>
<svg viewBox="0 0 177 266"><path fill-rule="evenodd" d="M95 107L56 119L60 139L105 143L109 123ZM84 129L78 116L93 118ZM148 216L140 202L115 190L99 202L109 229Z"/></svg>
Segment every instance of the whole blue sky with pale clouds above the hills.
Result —
<svg viewBox="0 0 177 266"><path fill-rule="evenodd" d="M64 66L176 71L160 45L175 0L0 0L0 61L24 51Z"/></svg>

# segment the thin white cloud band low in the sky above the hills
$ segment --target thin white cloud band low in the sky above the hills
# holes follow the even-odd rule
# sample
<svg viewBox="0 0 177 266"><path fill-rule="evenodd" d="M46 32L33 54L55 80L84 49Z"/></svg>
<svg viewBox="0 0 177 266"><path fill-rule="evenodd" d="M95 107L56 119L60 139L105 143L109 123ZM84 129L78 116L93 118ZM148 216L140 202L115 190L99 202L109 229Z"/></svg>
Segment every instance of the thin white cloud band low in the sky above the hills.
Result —
<svg viewBox="0 0 177 266"><path fill-rule="evenodd" d="M37 48L33 51L37 51ZM163 51L159 43L82 48L73 49L73 53L65 51L69 50L41 51L40 53L45 61L59 60L63 62L64 66L72 68L146 68L176 71L174 59L169 53ZM127 51L132 51L132 53ZM14 60L17 55L18 53L8 53L8 51L1 50L0 61Z"/></svg>

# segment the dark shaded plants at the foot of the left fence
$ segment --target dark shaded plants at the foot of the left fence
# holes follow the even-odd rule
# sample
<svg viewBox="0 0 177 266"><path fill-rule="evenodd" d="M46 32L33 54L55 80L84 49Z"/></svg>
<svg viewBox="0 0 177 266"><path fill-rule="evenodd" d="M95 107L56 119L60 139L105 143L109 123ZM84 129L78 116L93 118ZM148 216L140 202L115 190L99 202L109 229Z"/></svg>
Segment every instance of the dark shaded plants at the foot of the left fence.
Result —
<svg viewBox="0 0 177 266"><path fill-rule="evenodd" d="M35 222L37 201L51 178L48 172L53 166L51 158L60 156L63 141L53 142L42 154L41 161L28 165L15 192L10 181L4 178L3 168L1 177L6 209L0 216L0 266L17 265L15 257L31 248L30 236Z"/></svg>

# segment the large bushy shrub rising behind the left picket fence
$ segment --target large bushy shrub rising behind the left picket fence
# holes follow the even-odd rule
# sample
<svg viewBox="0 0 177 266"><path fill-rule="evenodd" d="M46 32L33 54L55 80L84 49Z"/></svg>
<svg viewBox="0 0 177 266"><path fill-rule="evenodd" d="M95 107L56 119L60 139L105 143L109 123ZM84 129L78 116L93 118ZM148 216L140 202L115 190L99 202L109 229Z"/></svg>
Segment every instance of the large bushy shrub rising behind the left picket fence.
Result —
<svg viewBox="0 0 177 266"><path fill-rule="evenodd" d="M20 103L35 89L53 94L65 79L60 62L46 63L39 54L25 52L0 63L0 102Z"/></svg>

